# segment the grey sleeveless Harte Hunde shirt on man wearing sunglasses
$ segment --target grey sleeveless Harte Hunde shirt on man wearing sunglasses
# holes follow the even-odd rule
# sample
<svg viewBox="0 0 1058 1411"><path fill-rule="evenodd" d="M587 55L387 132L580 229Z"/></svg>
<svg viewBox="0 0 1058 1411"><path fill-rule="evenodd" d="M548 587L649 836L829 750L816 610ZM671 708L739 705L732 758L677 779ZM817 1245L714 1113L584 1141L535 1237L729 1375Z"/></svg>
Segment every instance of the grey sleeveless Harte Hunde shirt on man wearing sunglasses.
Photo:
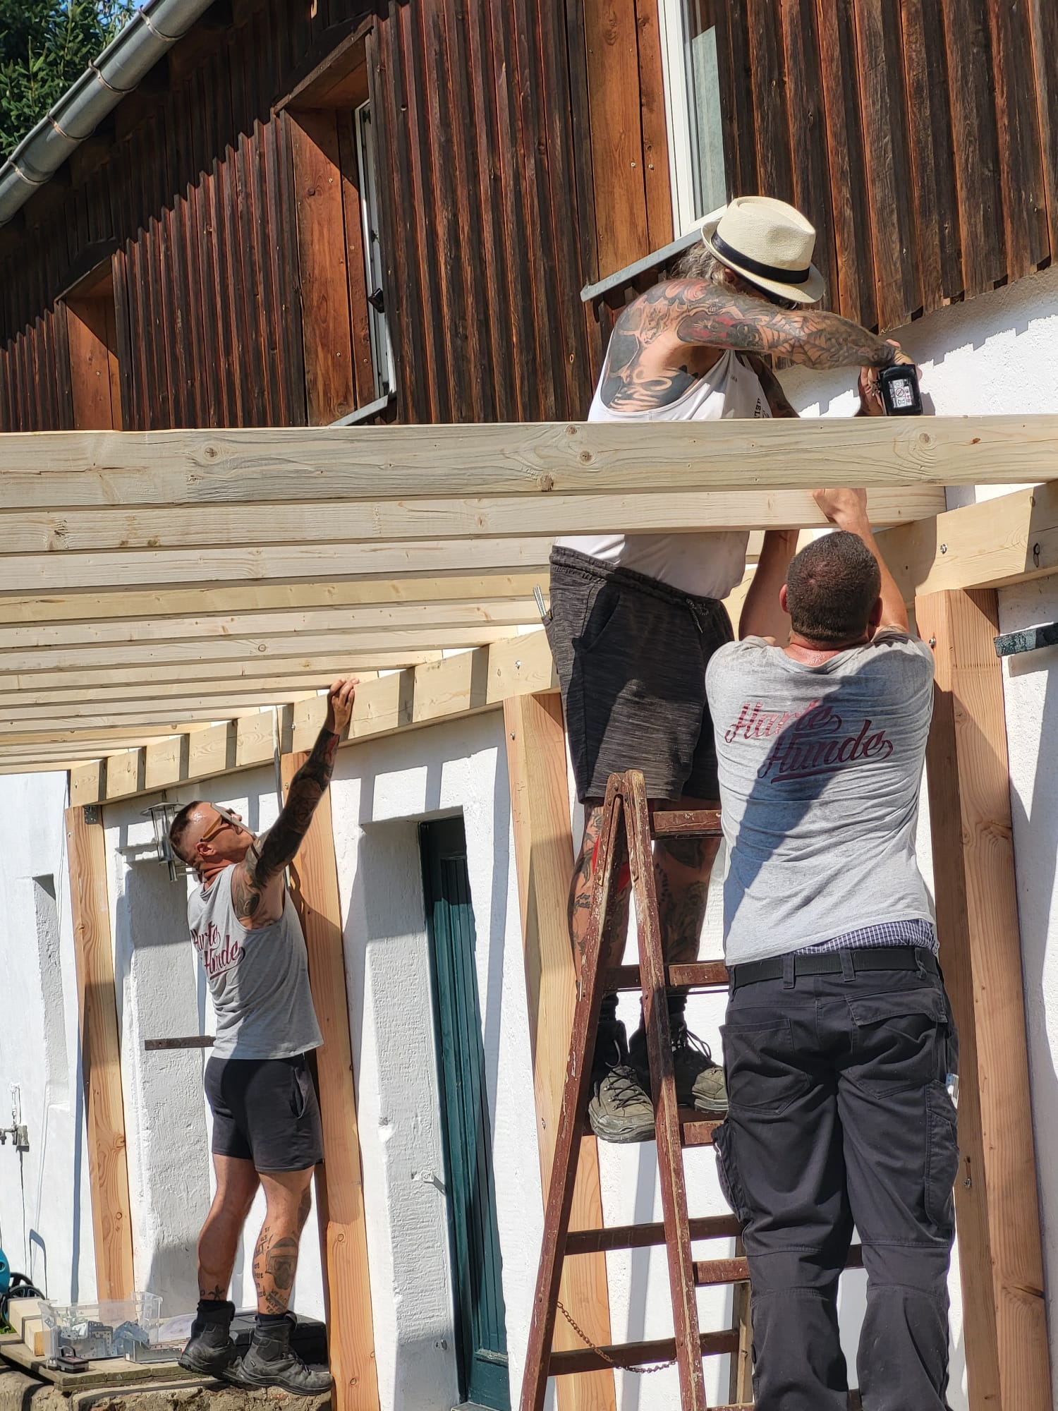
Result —
<svg viewBox="0 0 1058 1411"><path fill-rule="evenodd" d="M217 1012L217 1058L293 1058L323 1043L305 937L289 893L284 914L248 931L231 904L234 868L188 897L188 924Z"/></svg>

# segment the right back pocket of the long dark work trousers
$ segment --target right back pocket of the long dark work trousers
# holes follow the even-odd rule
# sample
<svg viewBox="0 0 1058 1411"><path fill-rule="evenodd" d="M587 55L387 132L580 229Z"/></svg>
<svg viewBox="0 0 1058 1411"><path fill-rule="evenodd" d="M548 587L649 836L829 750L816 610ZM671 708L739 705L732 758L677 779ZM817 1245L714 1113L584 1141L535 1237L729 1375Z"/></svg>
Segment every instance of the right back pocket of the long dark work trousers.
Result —
<svg viewBox="0 0 1058 1411"><path fill-rule="evenodd" d="M948 1006L940 989L907 989L849 1000L852 1064L861 1091L886 1098L924 1088L947 1072Z"/></svg>

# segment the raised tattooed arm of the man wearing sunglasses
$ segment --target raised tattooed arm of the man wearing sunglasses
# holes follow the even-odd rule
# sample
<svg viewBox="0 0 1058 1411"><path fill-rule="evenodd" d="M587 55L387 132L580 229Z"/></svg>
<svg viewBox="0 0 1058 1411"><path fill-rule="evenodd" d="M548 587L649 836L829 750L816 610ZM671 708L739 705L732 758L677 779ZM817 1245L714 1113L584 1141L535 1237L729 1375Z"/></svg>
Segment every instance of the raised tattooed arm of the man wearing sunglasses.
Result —
<svg viewBox="0 0 1058 1411"><path fill-rule="evenodd" d="M339 737L353 715L355 680L339 680L327 696L327 718L312 753L291 780L279 817L255 838L231 878L231 904L248 930L271 926L284 910L284 871L293 861L330 783Z"/></svg>

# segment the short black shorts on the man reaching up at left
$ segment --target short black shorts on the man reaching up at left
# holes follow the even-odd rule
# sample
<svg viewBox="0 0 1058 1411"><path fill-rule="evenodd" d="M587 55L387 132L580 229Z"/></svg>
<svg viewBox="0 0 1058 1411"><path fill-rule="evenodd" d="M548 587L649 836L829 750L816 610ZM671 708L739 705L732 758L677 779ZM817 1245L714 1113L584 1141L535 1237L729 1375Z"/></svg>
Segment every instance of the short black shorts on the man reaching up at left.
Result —
<svg viewBox="0 0 1058 1411"><path fill-rule="evenodd" d="M206 1098L213 1154L253 1161L255 1171L306 1171L323 1160L323 1127L306 1054L210 1058Z"/></svg>

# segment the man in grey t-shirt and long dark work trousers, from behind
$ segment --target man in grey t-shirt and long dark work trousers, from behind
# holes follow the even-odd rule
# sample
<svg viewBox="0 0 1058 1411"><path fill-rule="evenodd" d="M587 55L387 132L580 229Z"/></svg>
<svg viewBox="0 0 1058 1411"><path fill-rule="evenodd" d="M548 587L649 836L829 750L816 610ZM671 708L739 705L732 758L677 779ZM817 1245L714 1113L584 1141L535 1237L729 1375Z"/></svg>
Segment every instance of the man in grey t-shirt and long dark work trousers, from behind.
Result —
<svg viewBox="0 0 1058 1411"><path fill-rule="evenodd" d="M914 851L932 658L865 492L817 501L839 532L793 562L766 547L742 641L705 673L731 972L714 1140L749 1259L758 1411L845 1411L853 1225L863 1405L944 1411L955 1031Z"/></svg>

